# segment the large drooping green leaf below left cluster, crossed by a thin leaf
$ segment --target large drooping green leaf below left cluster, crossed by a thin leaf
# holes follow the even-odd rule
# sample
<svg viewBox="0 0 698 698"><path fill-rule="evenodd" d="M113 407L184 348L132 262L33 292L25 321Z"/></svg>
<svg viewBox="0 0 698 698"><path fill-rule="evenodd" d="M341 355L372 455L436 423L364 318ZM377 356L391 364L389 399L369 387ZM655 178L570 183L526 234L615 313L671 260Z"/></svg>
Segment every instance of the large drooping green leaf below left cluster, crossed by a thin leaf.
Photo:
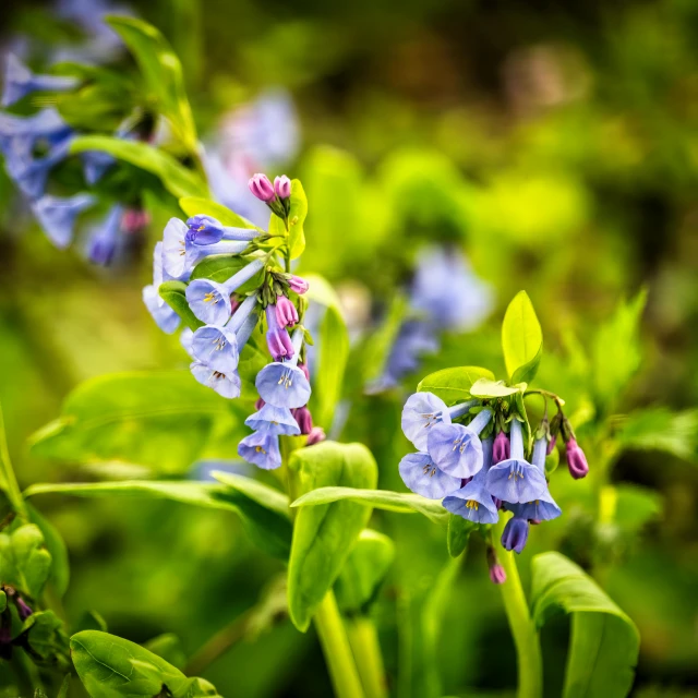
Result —
<svg viewBox="0 0 698 698"><path fill-rule="evenodd" d="M294 450L289 469L301 492L327 485L374 488L378 477L376 462L365 446L329 441ZM351 501L299 510L288 568L289 614L299 630L308 629L370 517L370 506Z"/></svg>

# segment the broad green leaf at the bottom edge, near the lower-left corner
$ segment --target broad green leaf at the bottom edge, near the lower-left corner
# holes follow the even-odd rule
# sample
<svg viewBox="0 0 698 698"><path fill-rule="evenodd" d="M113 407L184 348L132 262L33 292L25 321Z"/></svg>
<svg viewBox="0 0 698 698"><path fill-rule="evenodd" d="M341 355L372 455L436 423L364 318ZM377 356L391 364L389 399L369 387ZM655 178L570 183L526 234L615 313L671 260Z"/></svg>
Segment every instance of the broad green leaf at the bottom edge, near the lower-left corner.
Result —
<svg viewBox="0 0 698 698"><path fill-rule="evenodd" d="M70 639L75 671L92 698L171 695L216 696L202 679L186 678L157 654L116 635L84 630Z"/></svg>

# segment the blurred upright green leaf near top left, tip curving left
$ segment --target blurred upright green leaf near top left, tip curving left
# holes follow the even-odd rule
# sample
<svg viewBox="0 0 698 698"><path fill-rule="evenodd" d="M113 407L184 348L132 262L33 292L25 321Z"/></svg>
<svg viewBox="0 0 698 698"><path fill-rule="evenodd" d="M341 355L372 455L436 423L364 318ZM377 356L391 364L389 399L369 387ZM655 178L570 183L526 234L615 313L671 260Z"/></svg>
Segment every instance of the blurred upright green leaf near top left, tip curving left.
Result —
<svg viewBox="0 0 698 698"><path fill-rule="evenodd" d="M133 53L147 88L177 137L191 153L196 152L196 125L177 53L160 32L147 22L123 15L111 15L106 21Z"/></svg>

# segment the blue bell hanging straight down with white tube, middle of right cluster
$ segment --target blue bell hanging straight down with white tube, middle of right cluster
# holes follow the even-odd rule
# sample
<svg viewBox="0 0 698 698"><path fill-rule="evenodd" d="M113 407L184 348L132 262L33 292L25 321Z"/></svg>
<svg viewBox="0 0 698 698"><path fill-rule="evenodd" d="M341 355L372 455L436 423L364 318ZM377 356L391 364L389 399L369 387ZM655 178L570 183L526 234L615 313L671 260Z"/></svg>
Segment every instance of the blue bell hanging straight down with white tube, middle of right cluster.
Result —
<svg viewBox="0 0 698 698"><path fill-rule="evenodd" d="M515 418L510 422L512 457L492 466L488 472L488 489L493 496L519 504L541 497L547 484L545 476L535 466L524 459L521 423Z"/></svg>

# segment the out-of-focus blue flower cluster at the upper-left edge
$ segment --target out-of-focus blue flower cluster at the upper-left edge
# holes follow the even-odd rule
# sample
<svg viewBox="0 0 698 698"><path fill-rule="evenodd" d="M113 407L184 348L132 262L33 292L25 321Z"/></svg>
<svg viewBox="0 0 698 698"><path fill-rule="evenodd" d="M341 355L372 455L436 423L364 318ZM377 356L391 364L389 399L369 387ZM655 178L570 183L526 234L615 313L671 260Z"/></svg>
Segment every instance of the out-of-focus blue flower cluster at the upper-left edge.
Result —
<svg viewBox="0 0 698 698"><path fill-rule="evenodd" d="M2 92L2 106L10 107L36 92L63 93L77 88L80 81L58 75L36 75L14 56L9 56ZM69 158L70 147L77 135L52 108L47 107L22 117L0 112L0 152L5 169L47 237L58 248L67 248L73 240L80 214L93 206L95 198L84 191L71 196L48 192L53 169ZM124 127L118 137L146 137L141 127ZM105 153L86 152L80 155L85 189L96 184L113 164ZM147 225L146 214L139 207L116 204L105 218L88 232L86 254L95 264L108 265L117 253L122 234L134 233Z"/></svg>

